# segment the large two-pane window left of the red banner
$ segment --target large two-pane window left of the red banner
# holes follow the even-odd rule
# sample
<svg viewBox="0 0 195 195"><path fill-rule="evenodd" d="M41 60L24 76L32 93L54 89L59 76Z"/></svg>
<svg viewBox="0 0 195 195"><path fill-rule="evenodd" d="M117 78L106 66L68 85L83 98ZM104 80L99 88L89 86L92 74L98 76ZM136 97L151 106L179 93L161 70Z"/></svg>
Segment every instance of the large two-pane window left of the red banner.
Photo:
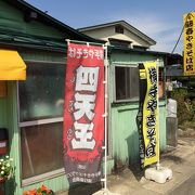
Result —
<svg viewBox="0 0 195 195"><path fill-rule="evenodd" d="M27 64L27 75L18 82L23 180L63 168L65 65Z"/></svg>

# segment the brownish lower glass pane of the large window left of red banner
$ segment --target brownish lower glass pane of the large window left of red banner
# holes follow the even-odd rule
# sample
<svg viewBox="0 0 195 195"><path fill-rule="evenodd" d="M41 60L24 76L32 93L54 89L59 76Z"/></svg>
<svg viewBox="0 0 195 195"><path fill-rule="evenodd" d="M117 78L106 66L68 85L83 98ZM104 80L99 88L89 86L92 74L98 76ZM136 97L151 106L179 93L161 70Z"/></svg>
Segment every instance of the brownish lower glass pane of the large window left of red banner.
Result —
<svg viewBox="0 0 195 195"><path fill-rule="evenodd" d="M63 168L62 122L21 129L22 178Z"/></svg>

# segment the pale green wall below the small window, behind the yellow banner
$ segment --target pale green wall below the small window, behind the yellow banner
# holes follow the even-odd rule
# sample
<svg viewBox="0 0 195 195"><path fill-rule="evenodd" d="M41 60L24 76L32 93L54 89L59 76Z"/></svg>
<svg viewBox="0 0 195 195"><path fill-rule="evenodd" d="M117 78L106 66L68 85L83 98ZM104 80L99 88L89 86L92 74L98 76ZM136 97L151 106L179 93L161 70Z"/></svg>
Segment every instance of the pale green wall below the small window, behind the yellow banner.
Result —
<svg viewBox="0 0 195 195"><path fill-rule="evenodd" d="M165 104L159 108L160 150L166 147L166 117ZM138 114L136 105L117 105L112 107L112 140L113 156L125 164L133 164L139 160L139 134L135 122Z"/></svg>

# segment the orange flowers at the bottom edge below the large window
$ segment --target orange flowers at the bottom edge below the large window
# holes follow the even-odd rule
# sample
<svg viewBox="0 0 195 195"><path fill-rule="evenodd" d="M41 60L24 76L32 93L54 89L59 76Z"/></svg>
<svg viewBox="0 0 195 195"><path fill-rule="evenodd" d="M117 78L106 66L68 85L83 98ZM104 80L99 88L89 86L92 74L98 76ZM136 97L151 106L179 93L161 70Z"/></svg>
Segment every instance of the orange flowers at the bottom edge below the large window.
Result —
<svg viewBox="0 0 195 195"><path fill-rule="evenodd" d="M54 195L52 190L49 190L46 185L30 191L24 191L23 195Z"/></svg>

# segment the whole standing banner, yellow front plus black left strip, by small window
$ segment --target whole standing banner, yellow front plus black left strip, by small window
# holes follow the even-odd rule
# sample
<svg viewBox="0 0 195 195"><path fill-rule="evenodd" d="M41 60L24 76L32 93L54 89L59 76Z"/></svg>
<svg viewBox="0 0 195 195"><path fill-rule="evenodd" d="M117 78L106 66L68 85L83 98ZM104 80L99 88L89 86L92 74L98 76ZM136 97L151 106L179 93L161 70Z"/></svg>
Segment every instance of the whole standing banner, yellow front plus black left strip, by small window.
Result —
<svg viewBox="0 0 195 195"><path fill-rule="evenodd" d="M157 162L158 142L158 84L155 62L139 65L140 106L136 116L141 167Z"/></svg>

